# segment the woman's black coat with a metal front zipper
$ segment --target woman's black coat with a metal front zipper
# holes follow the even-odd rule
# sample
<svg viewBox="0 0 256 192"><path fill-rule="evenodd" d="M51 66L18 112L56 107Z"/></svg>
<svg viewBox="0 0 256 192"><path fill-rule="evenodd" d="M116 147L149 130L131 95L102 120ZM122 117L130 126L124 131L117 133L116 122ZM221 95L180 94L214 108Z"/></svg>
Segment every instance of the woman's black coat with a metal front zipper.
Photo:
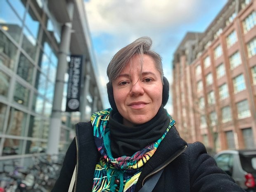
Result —
<svg viewBox="0 0 256 192"><path fill-rule="evenodd" d="M76 156L76 192L92 191L95 165L100 153L95 145L90 123L76 125L76 139L66 152L60 176L52 192L68 191ZM216 166L215 160L207 154L202 143L187 144L174 126L144 165L135 192L145 183L147 175L161 166L166 167L153 192L244 192L229 175Z"/></svg>

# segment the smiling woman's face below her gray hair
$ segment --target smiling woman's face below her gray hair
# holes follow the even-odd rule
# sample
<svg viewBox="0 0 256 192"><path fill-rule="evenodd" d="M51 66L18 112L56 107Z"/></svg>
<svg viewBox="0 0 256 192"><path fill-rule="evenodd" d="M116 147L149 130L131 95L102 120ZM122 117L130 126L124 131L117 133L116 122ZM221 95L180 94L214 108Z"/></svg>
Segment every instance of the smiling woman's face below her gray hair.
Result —
<svg viewBox="0 0 256 192"><path fill-rule="evenodd" d="M160 72L149 55L135 55L112 82L116 107L127 126L151 120L162 104L163 84Z"/></svg>

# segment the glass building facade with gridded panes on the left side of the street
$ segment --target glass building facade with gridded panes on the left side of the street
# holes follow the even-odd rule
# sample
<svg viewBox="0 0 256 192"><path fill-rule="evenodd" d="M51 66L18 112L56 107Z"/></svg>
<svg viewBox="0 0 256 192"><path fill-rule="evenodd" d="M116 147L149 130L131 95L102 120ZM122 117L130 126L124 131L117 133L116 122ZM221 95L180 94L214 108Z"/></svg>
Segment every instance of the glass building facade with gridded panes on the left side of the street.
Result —
<svg viewBox="0 0 256 192"><path fill-rule="evenodd" d="M47 1L0 1L0 160L47 150L62 25ZM97 99L96 106L101 106ZM61 113L58 147L65 151L81 113L63 107Z"/></svg>

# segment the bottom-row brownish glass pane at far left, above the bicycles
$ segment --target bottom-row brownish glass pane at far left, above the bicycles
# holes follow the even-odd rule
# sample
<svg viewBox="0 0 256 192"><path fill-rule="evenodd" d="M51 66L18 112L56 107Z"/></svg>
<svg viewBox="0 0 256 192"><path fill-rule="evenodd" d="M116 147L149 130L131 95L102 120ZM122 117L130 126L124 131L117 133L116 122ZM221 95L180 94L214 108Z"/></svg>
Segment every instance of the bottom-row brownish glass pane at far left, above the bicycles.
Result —
<svg viewBox="0 0 256 192"><path fill-rule="evenodd" d="M6 138L4 142L4 148L2 151L2 156L7 155L21 155L22 154L22 147L23 147L22 140L18 139L11 139Z"/></svg>

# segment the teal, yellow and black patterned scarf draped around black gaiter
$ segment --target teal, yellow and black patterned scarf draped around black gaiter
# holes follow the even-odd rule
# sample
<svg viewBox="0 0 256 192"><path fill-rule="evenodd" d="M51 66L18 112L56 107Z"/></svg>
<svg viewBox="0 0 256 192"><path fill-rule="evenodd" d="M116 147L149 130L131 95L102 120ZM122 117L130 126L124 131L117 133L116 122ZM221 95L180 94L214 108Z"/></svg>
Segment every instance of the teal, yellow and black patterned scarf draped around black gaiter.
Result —
<svg viewBox="0 0 256 192"><path fill-rule="evenodd" d="M142 166L154 154L175 121L168 115L170 118L169 126L159 140L136 152L133 156L113 158L108 127L111 110L110 108L99 111L91 116L95 144L102 155L95 167L92 192L133 192L142 171ZM120 181L120 184L116 182L117 180Z"/></svg>

